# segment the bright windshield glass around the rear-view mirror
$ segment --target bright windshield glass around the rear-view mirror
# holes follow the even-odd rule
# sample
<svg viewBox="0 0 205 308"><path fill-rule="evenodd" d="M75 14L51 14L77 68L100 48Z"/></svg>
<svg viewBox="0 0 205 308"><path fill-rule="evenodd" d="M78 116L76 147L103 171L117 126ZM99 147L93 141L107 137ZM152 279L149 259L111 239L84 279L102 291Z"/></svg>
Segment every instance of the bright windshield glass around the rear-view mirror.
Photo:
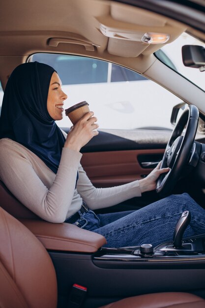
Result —
<svg viewBox="0 0 205 308"><path fill-rule="evenodd" d="M182 62L181 47L183 45L200 45L205 47L205 43L184 32L174 42L163 46L155 55L160 61L205 91L205 72L201 72L198 68L186 67ZM167 57L164 57L164 54Z"/></svg>

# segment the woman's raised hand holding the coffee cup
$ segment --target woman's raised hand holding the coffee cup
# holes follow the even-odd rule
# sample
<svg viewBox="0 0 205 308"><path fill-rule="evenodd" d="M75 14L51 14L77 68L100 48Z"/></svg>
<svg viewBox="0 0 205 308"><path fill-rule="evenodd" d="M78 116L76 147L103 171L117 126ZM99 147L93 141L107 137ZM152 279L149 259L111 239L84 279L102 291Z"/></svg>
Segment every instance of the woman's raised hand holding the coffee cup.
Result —
<svg viewBox="0 0 205 308"><path fill-rule="evenodd" d="M64 143L64 148L69 148L75 151L80 151L90 139L98 135L98 131L94 130L99 127L97 118L93 117L92 111L88 112L82 119L80 119L69 131Z"/></svg>

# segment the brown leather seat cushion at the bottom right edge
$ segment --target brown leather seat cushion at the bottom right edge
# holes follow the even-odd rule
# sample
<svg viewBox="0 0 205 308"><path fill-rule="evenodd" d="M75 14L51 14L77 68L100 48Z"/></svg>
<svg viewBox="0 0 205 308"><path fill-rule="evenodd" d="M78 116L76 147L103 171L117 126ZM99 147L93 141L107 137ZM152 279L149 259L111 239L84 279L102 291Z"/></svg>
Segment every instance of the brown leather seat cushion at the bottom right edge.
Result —
<svg viewBox="0 0 205 308"><path fill-rule="evenodd" d="M129 297L101 308L205 308L205 300L189 293L166 292Z"/></svg>

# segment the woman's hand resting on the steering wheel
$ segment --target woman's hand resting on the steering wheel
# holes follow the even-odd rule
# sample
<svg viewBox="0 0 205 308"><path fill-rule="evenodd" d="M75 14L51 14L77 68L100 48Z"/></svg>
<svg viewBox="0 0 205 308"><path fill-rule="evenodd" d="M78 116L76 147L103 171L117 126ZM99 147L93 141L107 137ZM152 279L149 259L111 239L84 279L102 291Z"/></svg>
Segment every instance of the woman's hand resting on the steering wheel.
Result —
<svg viewBox="0 0 205 308"><path fill-rule="evenodd" d="M160 169L161 161L158 163L156 168L154 168L145 179L139 180L141 193L145 191L150 191L156 189L156 181L160 174L170 171L170 168Z"/></svg>

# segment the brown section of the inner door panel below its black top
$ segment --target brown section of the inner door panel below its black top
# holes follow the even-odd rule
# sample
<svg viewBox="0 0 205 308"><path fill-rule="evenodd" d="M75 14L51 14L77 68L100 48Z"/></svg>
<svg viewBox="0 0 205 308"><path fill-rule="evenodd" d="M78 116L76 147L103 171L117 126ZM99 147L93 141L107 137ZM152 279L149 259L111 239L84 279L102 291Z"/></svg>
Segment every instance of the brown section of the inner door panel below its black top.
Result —
<svg viewBox="0 0 205 308"><path fill-rule="evenodd" d="M164 149L153 149L151 154L150 150L84 153L81 163L95 187L110 187L143 179L152 170L143 167L143 157L149 156L149 160L154 163L156 155L162 157L163 153Z"/></svg>

